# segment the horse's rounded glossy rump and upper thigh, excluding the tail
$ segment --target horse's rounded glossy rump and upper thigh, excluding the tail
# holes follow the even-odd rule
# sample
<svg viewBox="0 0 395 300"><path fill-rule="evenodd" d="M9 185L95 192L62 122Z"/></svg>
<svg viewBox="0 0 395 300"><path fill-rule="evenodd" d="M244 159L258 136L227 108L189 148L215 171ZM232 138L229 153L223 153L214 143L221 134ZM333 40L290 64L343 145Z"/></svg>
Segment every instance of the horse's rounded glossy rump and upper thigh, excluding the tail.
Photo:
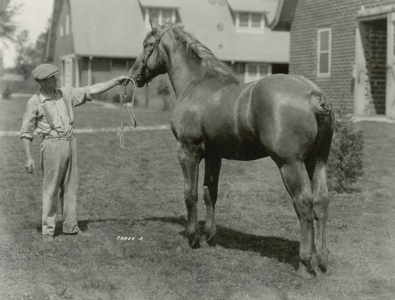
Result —
<svg viewBox="0 0 395 300"><path fill-rule="evenodd" d="M261 79L251 93L251 118L262 146L277 162L304 161L318 132L310 88L287 75Z"/></svg>

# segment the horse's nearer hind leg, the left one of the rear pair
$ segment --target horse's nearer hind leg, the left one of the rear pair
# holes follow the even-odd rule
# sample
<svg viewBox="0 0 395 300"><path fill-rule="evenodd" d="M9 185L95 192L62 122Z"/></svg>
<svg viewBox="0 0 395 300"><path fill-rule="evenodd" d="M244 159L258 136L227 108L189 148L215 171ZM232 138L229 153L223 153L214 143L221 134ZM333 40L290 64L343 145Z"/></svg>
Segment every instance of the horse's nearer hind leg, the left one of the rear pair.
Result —
<svg viewBox="0 0 395 300"><path fill-rule="evenodd" d="M279 167L300 223L301 263L297 275L309 279L314 278L317 272L317 262L314 246L313 195L310 182L307 179L303 162L285 163Z"/></svg>

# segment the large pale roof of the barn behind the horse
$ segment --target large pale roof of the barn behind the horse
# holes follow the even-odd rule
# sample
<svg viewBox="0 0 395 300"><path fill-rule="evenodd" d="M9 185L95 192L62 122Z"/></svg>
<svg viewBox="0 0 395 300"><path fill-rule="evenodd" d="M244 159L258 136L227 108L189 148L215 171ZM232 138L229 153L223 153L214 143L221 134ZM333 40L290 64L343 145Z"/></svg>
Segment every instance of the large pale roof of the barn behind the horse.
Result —
<svg viewBox="0 0 395 300"><path fill-rule="evenodd" d="M58 2L63 1L55 0L53 19L59 10ZM265 7L274 10L273 3L277 0L259 1L269 2L272 6ZM155 2L159 4L155 5ZM229 3L234 5L235 1ZM180 20L177 21L219 59L289 62L288 32L272 32L268 28L264 33L237 32L231 6L209 0L117 0L111 3L108 0L70 0L75 53L79 56L136 58L142 51L143 38L151 30L146 27L144 8L153 5L174 8L178 4L177 17ZM267 13L274 15L275 11L268 10ZM55 20L52 27L55 29L56 26ZM53 40L54 36L51 42Z"/></svg>

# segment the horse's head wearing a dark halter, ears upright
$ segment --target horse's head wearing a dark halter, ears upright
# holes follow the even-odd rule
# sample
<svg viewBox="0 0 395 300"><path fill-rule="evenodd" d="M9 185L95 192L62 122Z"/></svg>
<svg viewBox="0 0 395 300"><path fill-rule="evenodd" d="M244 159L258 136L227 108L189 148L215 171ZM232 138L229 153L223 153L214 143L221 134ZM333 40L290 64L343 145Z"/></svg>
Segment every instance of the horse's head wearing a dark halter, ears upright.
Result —
<svg viewBox="0 0 395 300"><path fill-rule="evenodd" d="M162 26L150 18L152 31L147 35L143 41L143 51L137 57L135 63L129 70L129 76L135 79L138 87L144 86L145 83L151 82L151 80L159 74L166 73L164 62L160 57L160 52L163 51L161 45L161 38L163 34L172 28L173 23L170 18L167 17L166 23ZM159 49L159 47L161 49Z"/></svg>

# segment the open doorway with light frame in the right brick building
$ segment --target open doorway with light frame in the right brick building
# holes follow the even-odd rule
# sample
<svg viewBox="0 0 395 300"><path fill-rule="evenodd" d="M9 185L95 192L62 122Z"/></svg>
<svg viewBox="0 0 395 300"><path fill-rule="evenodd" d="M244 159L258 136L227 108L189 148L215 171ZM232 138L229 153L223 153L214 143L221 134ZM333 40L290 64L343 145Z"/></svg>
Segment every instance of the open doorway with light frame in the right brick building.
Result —
<svg viewBox="0 0 395 300"><path fill-rule="evenodd" d="M375 14L375 12L381 12ZM356 27L356 115L395 118L395 12L373 9Z"/></svg>

